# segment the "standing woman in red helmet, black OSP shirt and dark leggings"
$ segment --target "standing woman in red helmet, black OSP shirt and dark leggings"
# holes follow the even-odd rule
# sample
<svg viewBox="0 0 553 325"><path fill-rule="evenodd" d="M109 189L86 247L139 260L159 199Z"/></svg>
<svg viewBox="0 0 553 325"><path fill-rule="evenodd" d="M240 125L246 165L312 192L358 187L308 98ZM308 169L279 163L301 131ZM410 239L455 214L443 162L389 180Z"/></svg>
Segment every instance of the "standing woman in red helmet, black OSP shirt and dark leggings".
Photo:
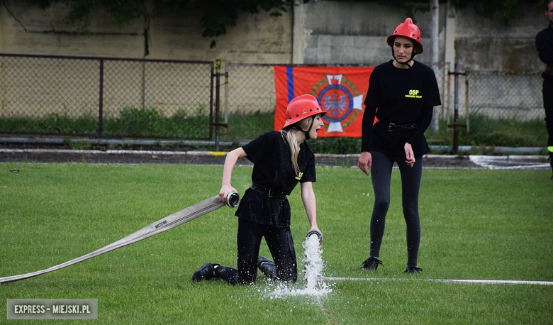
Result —
<svg viewBox="0 0 553 325"><path fill-rule="evenodd" d="M387 39L394 60L374 68L364 101L359 168L370 170L374 190L371 217L371 250L362 270L382 265L380 246L390 204L393 163L401 173L403 217L407 226L407 273L420 273L418 248L420 221L418 193L423 173L423 155L428 153L424 136L432 120L433 106L442 104L434 71L414 61L423 53L420 31L411 18L399 24ZM377 110L378 108L378 110ZM373 126L374 116L378 119Z"/></svg>

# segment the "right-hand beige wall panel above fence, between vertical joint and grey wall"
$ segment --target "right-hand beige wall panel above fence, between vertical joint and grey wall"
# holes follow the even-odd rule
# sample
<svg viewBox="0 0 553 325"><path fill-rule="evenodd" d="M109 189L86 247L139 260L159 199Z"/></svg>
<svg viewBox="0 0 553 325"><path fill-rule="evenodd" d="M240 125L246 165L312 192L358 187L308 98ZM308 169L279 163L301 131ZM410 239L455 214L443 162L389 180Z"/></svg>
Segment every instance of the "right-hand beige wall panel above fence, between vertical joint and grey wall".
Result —
<svg viewBox="0 0 553 325"><path fill-rule="evenodd" d="M215 38L216 48L209 48L212 38L203 38L199 20L202 13L182 17L165 10L162 18L150 23L150 58L181 60L216 60L243 63L291 62L292 13L271 17L264 11L257 15L238 13L235 27Z"/></svg>

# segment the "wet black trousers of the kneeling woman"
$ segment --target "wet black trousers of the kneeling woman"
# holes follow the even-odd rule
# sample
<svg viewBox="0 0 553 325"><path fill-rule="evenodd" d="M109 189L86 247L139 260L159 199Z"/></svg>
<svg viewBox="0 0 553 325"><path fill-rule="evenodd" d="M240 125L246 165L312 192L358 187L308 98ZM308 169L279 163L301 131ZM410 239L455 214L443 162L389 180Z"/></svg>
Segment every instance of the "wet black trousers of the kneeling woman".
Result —
<svg viewBox="0 0 553 325"><path fill-rule="evenodd" d="M250 285L257 277L257 258L265 238L277 268L277 279L296 282L298 264L289 226L267 226L238 218L238 270L220 266L216 275L231 285Z"/></svg>

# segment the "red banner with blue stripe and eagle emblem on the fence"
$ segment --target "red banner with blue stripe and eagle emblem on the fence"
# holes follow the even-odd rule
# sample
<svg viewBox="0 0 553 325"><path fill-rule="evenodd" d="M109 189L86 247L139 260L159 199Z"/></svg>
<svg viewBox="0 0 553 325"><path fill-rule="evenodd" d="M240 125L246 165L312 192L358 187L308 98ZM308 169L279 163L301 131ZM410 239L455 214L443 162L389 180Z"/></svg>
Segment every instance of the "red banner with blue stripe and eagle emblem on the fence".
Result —
<svg viewBox="0 0 553 325"><path fill-rule="evenodd" d="M291 67L274 66L277 109L274 130L284 126L288 103L302 94L311 94L327 114L319 137L361 137L364 97L374 67Z"/></svg>

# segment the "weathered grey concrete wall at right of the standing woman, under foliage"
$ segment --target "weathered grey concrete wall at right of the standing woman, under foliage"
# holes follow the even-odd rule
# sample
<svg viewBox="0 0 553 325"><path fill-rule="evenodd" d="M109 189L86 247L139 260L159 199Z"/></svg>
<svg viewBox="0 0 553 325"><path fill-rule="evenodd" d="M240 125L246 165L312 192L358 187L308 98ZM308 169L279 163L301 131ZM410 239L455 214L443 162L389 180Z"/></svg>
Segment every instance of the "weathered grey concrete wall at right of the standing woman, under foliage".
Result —
<svg viewBox="0 0 553 325"><path fill-rule="evenodd" d="M508 25L476 15L473 9L448 6L445 60L459 62L469 75L471 113L493 119L543 119L540 72L535 35L547 27L544 10L535 4L521 8L523 16ZM498 72L488 73L486 72ZM522 74L522 75L518 75ZM454 77L449 88L449 111L454 107ZM459 115L466 113L465 77L459 77Z"/></svg>

